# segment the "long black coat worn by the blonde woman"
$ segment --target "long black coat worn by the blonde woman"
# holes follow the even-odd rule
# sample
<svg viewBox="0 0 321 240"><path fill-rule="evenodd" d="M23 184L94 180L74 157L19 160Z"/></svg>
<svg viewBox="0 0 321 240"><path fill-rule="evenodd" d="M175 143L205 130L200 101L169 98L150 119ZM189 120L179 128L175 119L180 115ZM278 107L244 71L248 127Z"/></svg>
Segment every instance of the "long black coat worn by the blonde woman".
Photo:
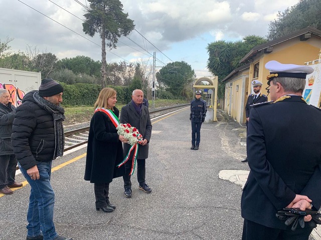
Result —
<svg viewBox="0 0 321 240"><path fill-rule="evenodd" d="M119 110L114 107L118 117ZM122 143L118 139L116 127L106 113L97 111L91 118L88 136L85 180L92 183L108 183L113 178L125 174Z"/></svg>

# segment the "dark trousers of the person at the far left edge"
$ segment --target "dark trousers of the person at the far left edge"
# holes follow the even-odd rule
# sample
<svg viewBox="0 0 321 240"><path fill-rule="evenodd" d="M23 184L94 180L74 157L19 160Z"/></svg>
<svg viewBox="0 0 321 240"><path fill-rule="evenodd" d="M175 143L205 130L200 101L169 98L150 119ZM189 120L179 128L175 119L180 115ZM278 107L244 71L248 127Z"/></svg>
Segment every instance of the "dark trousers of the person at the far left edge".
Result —
<svg viewBox="0 0 321 240"><path fill-rule="evenodd" d="M0 189L14 184L18 160L16 155L0 156Z"/></svg>

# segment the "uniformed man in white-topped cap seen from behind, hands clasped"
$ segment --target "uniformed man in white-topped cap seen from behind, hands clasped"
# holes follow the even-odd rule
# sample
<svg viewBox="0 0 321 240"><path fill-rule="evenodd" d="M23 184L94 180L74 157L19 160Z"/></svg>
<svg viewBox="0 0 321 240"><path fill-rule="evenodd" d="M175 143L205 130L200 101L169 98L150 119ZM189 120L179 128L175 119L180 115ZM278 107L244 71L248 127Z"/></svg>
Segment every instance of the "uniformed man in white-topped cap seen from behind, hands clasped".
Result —
<svg viewBox="0 0 321 240"><path fill-rule="evenodd" d="M312 67L269 61L265 67L273 103L252 108L247 134L250 173L243 188L243 240L308 239L275 214L284 207L318 210L321 205L321 110L302 98ZM304 221L311 216L304 216Z"/></svg>

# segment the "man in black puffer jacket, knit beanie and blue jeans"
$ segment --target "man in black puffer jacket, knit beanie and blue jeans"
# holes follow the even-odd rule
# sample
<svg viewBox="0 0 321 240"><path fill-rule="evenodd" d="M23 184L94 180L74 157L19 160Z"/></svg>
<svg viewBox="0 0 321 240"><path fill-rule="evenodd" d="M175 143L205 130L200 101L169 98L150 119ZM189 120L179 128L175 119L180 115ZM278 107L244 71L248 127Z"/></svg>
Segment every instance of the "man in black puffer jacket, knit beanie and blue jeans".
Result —
<svg viewBox="0 0 321 240"><path fill-rule="evenodd" d="M31 186L27 213L27 240L72 240L57 234L55 192L50 183L52 160L63 155L65 119L60 105L64 88L51 78L39 91L29 91L17 108L11 136L22 174Z"/></svg>

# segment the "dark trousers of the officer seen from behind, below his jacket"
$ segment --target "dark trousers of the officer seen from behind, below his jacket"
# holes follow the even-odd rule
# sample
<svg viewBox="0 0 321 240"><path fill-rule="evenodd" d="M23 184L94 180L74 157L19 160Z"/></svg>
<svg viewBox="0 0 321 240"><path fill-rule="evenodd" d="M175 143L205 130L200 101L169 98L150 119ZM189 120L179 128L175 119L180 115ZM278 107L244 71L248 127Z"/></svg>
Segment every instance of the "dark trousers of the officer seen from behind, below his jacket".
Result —
<svg viewBox="0 0 321 240"><path fill-rule="evenodd" d="M242 240L308 240L312 228L308 227L305 222L305 227L297 226L295 231L289 227L286 230L271 228L244 219Z"/></svg>

